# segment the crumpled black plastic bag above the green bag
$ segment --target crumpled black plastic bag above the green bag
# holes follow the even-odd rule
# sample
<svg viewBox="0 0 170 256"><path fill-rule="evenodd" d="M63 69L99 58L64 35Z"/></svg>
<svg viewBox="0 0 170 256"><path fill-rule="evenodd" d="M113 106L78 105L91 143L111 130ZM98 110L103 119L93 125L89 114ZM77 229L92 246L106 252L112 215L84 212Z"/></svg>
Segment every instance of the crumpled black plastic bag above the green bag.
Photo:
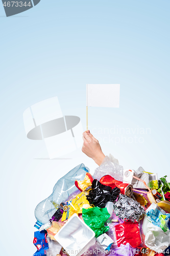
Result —
<svg viewBox="0 0 170 256"><path fill-rule="evenodd" d="M114 202L120 193L120 189L101 184L98 180L93 180L91 190L86 196L91 205L105 207L107 202Z"/></svg>

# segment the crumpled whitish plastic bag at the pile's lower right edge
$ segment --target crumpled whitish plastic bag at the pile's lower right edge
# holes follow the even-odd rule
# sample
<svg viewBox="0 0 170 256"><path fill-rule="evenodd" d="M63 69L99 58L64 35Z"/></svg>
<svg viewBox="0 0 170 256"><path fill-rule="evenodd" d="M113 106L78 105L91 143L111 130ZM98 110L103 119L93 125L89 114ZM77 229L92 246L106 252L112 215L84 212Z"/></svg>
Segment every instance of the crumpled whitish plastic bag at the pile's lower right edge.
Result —
<svg viewBox="0 0 170 256"><path fill-rule="evenodd" d="M166 249L170 244L169 229L164 232L160 227L157 227L150 222L148 224L144 243L151 250L159 253L163 252L163 250Z"/></svg>

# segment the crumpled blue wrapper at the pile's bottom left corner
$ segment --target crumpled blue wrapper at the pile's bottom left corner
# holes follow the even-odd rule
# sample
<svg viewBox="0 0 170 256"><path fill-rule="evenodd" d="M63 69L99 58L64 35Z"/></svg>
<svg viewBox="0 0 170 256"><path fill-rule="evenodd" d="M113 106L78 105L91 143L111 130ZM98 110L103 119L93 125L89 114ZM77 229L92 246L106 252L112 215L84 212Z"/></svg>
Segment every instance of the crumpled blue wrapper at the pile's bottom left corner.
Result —
<svg viewBox="0 0 170 256"><path fill-rule="evenodd" d="M45 255L45 250L48 249L48 242L46 237L47 232L45 230L34 232L33 244L36 246L37 251L33 254L33 256Z"/></svg>

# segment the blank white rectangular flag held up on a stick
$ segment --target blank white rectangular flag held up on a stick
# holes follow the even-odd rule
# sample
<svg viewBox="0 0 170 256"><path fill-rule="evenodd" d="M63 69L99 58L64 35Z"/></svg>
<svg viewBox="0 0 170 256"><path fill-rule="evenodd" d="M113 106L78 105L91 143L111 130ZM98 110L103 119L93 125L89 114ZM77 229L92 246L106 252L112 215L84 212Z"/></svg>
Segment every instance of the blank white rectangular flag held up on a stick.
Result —
<svg viewBox="0 0 170 256"><path fill-rule="evenodd" d="M120 84L87 84L87 106L119 108Z"/></svg>

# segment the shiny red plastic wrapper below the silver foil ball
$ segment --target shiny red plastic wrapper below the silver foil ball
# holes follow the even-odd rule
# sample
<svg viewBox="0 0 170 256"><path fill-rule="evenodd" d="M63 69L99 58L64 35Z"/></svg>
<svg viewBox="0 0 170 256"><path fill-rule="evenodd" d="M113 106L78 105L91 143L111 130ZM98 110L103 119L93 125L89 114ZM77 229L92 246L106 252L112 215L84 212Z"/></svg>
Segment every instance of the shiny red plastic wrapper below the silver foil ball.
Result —
<svg viewBox="0 0 170 256"><path fill-rule="evenodd" d="M129 243L133 248L141 244L140 230L138 223L131 221L124 222L115 226L117 246Z"/></svg>

